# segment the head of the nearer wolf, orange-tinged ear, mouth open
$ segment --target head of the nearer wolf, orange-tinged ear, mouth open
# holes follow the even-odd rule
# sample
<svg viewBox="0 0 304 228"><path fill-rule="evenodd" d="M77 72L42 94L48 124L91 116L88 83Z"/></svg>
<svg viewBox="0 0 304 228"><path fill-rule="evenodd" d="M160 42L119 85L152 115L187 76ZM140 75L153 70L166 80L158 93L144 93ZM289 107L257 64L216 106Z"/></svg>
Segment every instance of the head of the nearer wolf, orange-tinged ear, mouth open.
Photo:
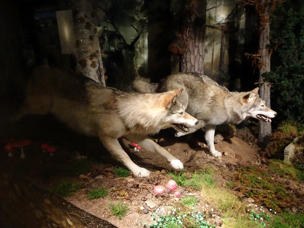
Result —
<svg viewBox="0 0 304 228"><path fill-rule="evenodd" d="M177 131L187 132L188 127L193 127L198 120L185 112L184 105L178 101L178 96L183 91L182 88L174 89L164 93L162 106L167 112L166 121Z"/></svg>

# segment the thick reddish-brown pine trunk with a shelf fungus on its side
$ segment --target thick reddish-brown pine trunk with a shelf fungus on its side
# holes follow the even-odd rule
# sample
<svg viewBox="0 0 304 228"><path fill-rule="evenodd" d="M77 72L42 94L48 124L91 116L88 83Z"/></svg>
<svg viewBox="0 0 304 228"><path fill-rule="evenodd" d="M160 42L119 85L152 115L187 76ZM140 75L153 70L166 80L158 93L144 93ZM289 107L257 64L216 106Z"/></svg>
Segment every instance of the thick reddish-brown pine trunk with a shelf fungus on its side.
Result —
<svg viewBox="0 0 304 228"><path fill-rule="evenodd" d="M181 71L204 74L204 50L206 35L205 0L184 1L185 16L181 34L187 51L181 57Z"/></svg>

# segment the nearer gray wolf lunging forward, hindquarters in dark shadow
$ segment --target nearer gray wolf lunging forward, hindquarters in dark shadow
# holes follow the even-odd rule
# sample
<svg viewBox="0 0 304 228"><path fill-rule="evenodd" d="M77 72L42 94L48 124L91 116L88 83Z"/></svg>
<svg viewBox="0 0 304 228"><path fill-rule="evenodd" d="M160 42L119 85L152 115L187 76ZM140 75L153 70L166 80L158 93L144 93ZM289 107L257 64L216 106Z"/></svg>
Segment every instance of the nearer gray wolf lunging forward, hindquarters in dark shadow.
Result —
<svg viewBox="0 0 304 228"><path fill-rule="evenodd" d="M164 157L174 169L183 169L181 161L147 136L168 127L186 131L198 123L178 101L182 90L127 93L59 68L36 67L29 77L25 101L12 120L50 112L72 129L98 137L135 176L148 177L150 171L131 161L117 139L124 136Z"/></svg>

